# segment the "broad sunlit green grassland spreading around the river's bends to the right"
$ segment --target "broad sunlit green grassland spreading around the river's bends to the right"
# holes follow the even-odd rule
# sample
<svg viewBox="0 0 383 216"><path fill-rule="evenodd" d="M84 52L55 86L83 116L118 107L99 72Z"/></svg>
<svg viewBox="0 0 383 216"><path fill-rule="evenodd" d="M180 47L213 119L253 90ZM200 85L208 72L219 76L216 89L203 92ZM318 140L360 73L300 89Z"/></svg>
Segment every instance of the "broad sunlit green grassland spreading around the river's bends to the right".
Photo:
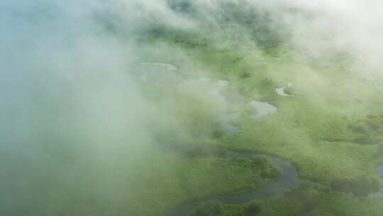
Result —
<svg viewBox="0 0 383 216"><path fill-rule="evenodd" d="M363 215L363 211L376 212L371 214L377 215L381 210L379 203L382 199L353 197L335 190L357 195L378 190L379 178L374 168L383 163L379 146L383 126L379 110L383 103L382 87L371 87L353 79L355 71L345 67L347 62L334 60L323 66L308 60L293 60L291 56L295 53L288 53L283 47L262 52L262 49L257 51L254 45L236 47L231 44L233 41L215 34L163 29L160 33L148 34L143 42L148 41L154 46L167 44L176 50L173 53L182 53L153 55L148 60L173 63L179 66L179 74L183 77L201 74L212 79L228 80L230 84L226 93L240 95L243 102L229 103L225 109L212 112L213 109L196 106L194 110L198 112L180 114L183 125L199 130L195 134L205 131L205 136L210 136L210 141L205 144L285 158L294 163L302 179L332 188L326 193L315 188L296 189L277 200L262 202L260 215L301 215L299 211L304 204L300 202L304 200L290 199L295 193L317 200L308 215ZM193 60L195 64L189 65L185 59ZM293 83L286 90L290 96L277 95L274 89L287 82ZM252 99L270 102L278 108L278 112L264 119L250 119L248 113L252 111L244 102ZM178 101L191 107L195 104L185 98ZM241 112L241 117L233 121L240 127L240 134L231 137L211 135L212 131L218 130L214 119L223 112ZM185 124L187 121L189 123ZM210 132L206 134L206 131ZM185 142L198 143L195 139ZM247 166L232 162L220 159L184 161L187 168L180 170L188 175L178 178L179 184L204 186L196 186L192 189L194 193L182 198L173 197L169 205L212 194L240 193L244 188L254 189L265 183L253 172L245 172ZM247 169L250 170L249 167ZM235 175L242 180L220 180L218 176L221 175ZM199 178L201 183L193 182ZM209 190L198 192L197 188ZM163 190L158 197L161 195L170 193ZM350 210L350 206L355 210ZM242 205L225 206L223 215L241 215L244 209Z"/></svg>

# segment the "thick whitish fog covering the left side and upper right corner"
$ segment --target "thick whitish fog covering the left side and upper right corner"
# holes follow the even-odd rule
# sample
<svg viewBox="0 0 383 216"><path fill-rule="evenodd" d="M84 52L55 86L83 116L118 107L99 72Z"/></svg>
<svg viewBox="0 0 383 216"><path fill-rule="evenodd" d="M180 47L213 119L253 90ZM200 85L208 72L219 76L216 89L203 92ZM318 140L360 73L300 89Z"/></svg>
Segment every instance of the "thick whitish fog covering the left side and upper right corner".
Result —
<svg viewBox="0 0 383 216"><path fill-rule="evenodd" d="M151 126L182 128L174 114L179 102L174 89L148 99L135 74L143 70L140 63L147 56L178 52L200 77L211 70L174 44L139 43L152 26L217 31L225 37L241 24L228 28L221 5L245 3L270 14L270 31L291 48L291 59L326 65L347 53L358 75L381 74L380 1L199 0L190 4L198 17L179 11L181 1L174 2L0 3L0 215L129 212L126 203L142 192L134 190L132 179L138 177L133 175L153 151ZM240 29L236 42L252 45L259 54L261 45L244 26ZM209 100L198 87L184 92Z"/></svg>

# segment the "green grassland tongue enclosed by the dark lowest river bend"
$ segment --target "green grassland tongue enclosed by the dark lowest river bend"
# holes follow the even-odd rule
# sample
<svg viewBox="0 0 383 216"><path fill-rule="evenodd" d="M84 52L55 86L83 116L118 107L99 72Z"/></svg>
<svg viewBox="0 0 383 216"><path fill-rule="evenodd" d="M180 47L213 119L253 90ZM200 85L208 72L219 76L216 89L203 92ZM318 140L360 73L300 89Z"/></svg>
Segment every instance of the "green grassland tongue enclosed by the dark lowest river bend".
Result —
<svg viewBox="0 0 383 216"><path fill-rule="evenodd" d="M138 196L128 195L131 215L161 215L187 200L257 190L274 179L262 175L272 163L255 168L252 159L187 159L156 149L145 158L132 172L129 193Z"/></svg>

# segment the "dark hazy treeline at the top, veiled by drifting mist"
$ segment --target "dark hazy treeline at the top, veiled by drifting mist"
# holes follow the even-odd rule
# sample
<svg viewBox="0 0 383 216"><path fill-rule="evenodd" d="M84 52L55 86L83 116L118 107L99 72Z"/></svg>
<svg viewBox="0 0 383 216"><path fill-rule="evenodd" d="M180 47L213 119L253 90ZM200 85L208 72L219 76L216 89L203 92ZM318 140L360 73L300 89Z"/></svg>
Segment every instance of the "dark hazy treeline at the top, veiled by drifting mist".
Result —
<svg viewBox="0 0 383 216"><path fill-rule="evenodd" d="M238 43L243 42L243 36L250 36L250 40L265 53L272 53L289 37L287 28L273 18L274 14L256 8L248 1L218 1L218 9L206 11L189 0L169 0L168 4L177 13L197 21L208 35L212 31L222 31Z"/></svg>

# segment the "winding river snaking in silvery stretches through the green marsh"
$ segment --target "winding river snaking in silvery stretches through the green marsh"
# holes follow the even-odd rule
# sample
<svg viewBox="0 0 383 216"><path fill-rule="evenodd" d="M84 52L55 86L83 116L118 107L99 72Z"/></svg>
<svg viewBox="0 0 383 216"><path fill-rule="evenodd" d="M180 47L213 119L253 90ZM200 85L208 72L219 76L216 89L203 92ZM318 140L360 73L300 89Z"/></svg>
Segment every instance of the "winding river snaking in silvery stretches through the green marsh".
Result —
<svg viewBox="0 0 383 216"><path fill-rule="evenodd" d="M178 70L177 66L166 64L166 63L142 63L141 65L160 66L160 67L166 68L167 70ZM211 82L211 80L209 79L183 80L183 82ZM210 92L211 95L213 97L218 98L219 100L223 102L226 102L226 97L222 94L222 90L227 85L228 85L227 80L217 80L217 82L215 82L215 84L213 85L213 89ZM277 88L275 89L275 91L277 92L278 95L289 96L284 92L284 89L291 85L292 83L289 82L288 85ZM277 112L277 107L274 107L272 104L268 102L250 101L248 102L248 105L256 108L255 114L250 116L254 119L261 119L261 118L269 116L270 114L274 114L275 112ZM231 124L230 121L232 121L235 118L238 118L239 116L240 116L239 113L224 114L221 117L218 117L216 121L221 126L223 131L226 132L227 136L235 136L236 134L240 132L240 129L238 128L238 126ZM160 144L158 144L157 141L153 141L153 143L155 144L155 148L157 148L158 150L164 153L169 153L169 154L172 154L173 156L185 158L184 154L177 152L177 150L164 148ZM276 198L277 196L282 195L285 190L295 188L301 182L301 179L299 178L298 173L296 171L296 167L293 166L292 163L289 163L289 161L284 161L282 158L278 158L276 156L270 156L267 154L260 154L260 153L243 153L240 151L228 151L225 156L221 156L219 158L224 158L224 159L230 159L235 157L250 158L253 156L264 156L265 158L270 159L281 171L280 178L272 181L271 183L268 183L267 185L262 186L262 188L259 188L258 190L248 191L246 193L242 193L239 195L221 195L221 196L217 196L213 198L201 198L199 200L191 200L191 201L183 202L180 205L177 205L176 207L174 207L172 210L170 210L170 212L168 212L167 215L170 215L170 216L190 215L191 212L196 210L197 207L203 205L204 202L206 201L221 202L223 205L238 205L238 204L250 202L252 200ZM193 157L193 158L195 159L196 157ZM201 156L197 158L206 158L206 157ZM218 158L218 156L216 158ZM379 175L383 177L383 166L379 166L377 168L377 173L379 173ZM371 193L369 197L370 198L383 197L383 188L378 193Z"/></svg>

